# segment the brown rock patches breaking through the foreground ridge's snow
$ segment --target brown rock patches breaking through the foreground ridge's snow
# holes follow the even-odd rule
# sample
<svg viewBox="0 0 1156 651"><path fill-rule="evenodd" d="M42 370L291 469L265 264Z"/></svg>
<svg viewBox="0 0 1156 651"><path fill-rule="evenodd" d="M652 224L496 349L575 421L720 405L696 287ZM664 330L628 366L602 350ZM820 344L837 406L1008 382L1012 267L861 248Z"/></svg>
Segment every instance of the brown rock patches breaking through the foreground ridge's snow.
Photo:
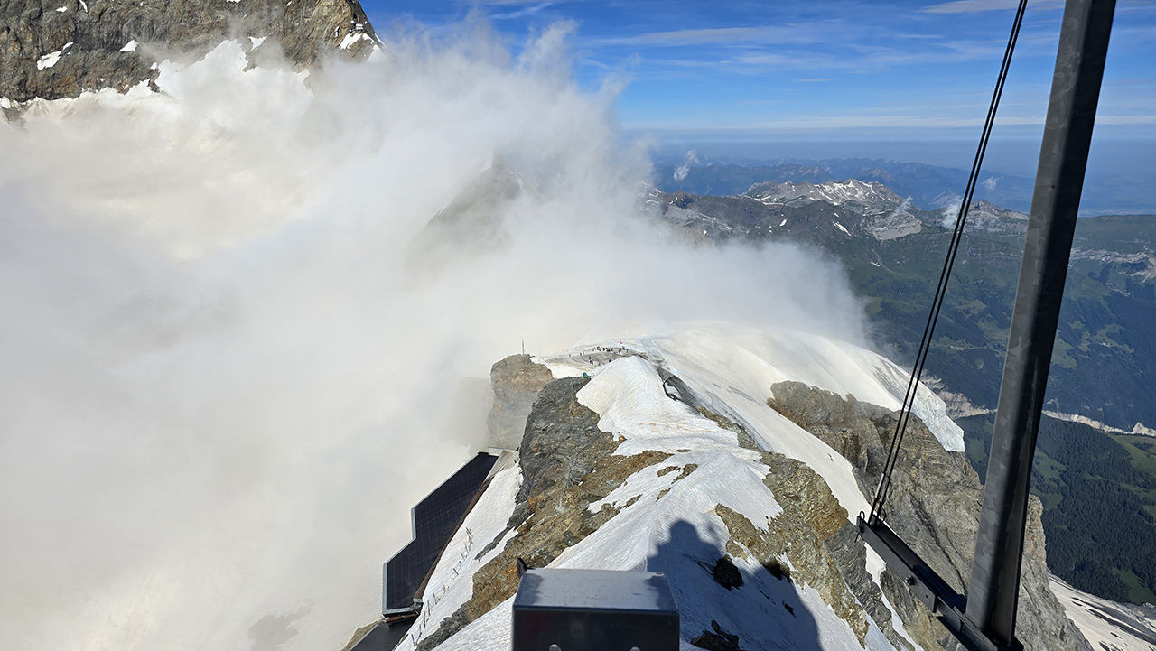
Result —
<svg viewBox="0 0 1156 651"><path fill-rule="evenodd" d="M495 377L507 386L531 390L541 379L541 371L528 358L514 356L495 365ZM665 464L667 467L659 468L655 474L666 476L677 472L670 483L673 487L698 472L697 464L672 465L674 460L666 452L616 454L623 439L600 431L599 414L578 402L578 391L588 382L587 378L557 379L539 392L526 419L520 445L523 481L513 513L505 531L495 537L477 558L491 553L503 540L505 546L473 575L472 598L438 622L436 630L418 644L420 650L437 648L512 597L518 589L519 561L529 567L548 565L565 549L633 505L642 496L622 504L603 502L596 510L588 509L623 486L628 478L650 466ZM862 543L847 521L847 512L823 479L798 460L759 451L741 426L705 409L699 413L740 434L736 453L757 451L759 463L766 467L763 483L781 508L781 512L768 523L756 526L742 513L721 503L714 505L713 512L726 527L729 540L725 549L710 550L718 555L695 558L703 571L711 574L712 585L748 594L747 598L758 601L772 599L747 585L734 564L743 558L747 561L744 567L761 567L759 571L765 570L771 580L795 582L817 591L849 623L861 644L866 643L869 621L875 620L884 635L904 649L902 638L891 627L891 614L882 602L881 592L866 571ZM643 498L661 501L669 490L668 487ZM514 532L512 537L507 535L511 531ZM662 571L669 574L667 569ZM679 577L673 576L672 580L677 582ZM865 586L874 589L874 594ZM784 598L793 594L792 589L775 598L781 600L776 607L785 609L788 616L794 616L795 608L800 607L793 598ZM694 632L688 638L703 649L744 648L743 630Z"/></svg>

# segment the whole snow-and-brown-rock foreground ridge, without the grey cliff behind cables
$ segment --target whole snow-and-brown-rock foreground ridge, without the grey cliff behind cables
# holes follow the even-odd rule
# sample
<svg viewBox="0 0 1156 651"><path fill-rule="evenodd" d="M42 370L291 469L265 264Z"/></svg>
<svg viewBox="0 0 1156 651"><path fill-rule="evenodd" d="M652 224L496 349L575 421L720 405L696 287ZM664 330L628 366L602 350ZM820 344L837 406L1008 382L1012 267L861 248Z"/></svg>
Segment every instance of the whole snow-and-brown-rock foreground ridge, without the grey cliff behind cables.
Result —
<svg viewBox="0 0 1156 651"><path fill-rule="evenodd" d="M864 399L847 397L855 413L874 413L867 401L887 412L898 407L901 369L844 342L717 324L535 362L557 379L527 419L520 458L503 456L398 649L506 649L514 558L662 571L688 651L731 648L717 645L733 636L739 649L939 648L946 631L891 583L849 521L869 508L861 471L793 422L780 389L810 384L829 400ZM929 428L921 445L958 461L944 450L962 450L962 436L943 402L921 387L917 413ZM965 460L954 467L970 472ZM942 490L959 494L953 481ZM948 503L933 519L949 517ZM1039 535L1032 554L1043 552ZM738 584L714 578L720 563L736 568ZM1021 613L1028 648L1087 649L1032 577Z"/></svg>

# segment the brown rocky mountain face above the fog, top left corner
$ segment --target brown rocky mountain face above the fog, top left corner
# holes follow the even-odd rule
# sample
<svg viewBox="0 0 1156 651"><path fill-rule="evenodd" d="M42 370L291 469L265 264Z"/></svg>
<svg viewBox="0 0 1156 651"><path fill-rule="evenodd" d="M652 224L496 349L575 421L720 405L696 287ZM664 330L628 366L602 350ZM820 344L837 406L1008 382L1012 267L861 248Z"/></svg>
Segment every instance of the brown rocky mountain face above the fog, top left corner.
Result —
<svg viewBox="0 0 1156 651"><path fill-rule="evenodd" d="M297 69L327 56L363 60L378 43L356 0L6 0L0 97L12 112L37 97L124 93L153 84L161 59L195 60L229 38L249 49L252 65Z"/></svg>

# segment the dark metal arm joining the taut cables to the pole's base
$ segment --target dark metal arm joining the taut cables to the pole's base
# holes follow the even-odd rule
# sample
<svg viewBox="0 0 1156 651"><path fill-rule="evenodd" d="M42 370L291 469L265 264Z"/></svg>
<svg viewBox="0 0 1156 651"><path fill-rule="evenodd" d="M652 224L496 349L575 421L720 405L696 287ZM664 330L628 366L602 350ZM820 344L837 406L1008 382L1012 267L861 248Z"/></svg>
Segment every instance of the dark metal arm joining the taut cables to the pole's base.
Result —
<svg viewBox="0 0 1156 651"><path fill-rule="evenodd" d="M951 589L883 520L867 521L859 513L859 535L887 563L932 613L969 651L1022 651L1017 639L1002 644L991 639L968 619L968 598Z"/></svg>

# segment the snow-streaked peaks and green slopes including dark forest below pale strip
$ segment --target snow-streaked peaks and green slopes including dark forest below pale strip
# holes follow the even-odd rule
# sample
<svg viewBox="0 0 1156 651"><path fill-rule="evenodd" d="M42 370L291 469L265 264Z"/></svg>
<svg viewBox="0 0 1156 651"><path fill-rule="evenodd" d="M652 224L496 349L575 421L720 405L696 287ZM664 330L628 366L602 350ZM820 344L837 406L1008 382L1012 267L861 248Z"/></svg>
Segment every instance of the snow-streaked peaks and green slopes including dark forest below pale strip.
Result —
<svg viewBox="0 0 1156 651"><path fill-rule="evenodd" d="M821 178L814 169L798 171L795 178ZM729 197L646 185L640 201L694 242L795 242L838 258L876 341L891 358L911 363L954 210L925 210L883 184L855 179L764 182ZM928 384L963 426L980 476L1027 223L1027 215L986 200L971 206L927 362ZM1156 601L1154 239L1156 215L1080 220L1046 408L1116 430L1047 417L1032 482L1044 501L1052 571L1082 590L1135 602ZM1106 526L1107 512L1127 521ZM1097 533L1088 523L1105 526ZM1103 554L1089 560L1095 548Z"/></svg>

